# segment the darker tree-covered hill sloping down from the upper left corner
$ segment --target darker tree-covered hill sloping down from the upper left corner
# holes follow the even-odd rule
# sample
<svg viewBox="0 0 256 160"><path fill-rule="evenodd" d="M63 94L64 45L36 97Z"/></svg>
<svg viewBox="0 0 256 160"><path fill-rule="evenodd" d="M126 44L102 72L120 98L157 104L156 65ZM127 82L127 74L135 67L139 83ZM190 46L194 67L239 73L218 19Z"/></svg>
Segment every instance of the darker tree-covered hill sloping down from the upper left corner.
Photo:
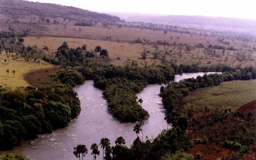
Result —
<svg viewBox="0 0 256 160"><path fill-rule="evenodd" d="M105 13L91 12L71 6L22 0L0 0L0 14L10 14L13 17L19 17L20 15L37 15L40 17L61 17L71 20L87 18L99 21L107 20L110 22L121 21L119 17Z"/></svg>

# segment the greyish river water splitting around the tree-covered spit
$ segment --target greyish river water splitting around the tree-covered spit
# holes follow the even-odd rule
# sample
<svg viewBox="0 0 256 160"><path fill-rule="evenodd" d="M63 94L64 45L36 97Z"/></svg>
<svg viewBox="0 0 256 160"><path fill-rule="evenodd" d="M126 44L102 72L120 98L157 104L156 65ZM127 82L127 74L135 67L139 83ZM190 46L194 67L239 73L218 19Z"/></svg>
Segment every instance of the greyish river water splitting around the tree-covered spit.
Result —
<svg viewBox="0 0 256 160"><path fill-rule="evenodd" d="M207 73L209 74L209 73ZM175 76L175 80L180 78L191 78L203 76L204 73L183 73ZM27 140L5 153L23 153L31 160L71 160L76 157L73 154L74 147L78 144L84 144L88 148L88 154L85 159L92 158L92 143L100 144L101 138L108 138L110 145L115 145L115 140L123 136L126 146L130 147L136 138L133 132L134 123L122 123L114 118L109 112L107 101L103 98L102 91L93 87L92 81L86 81L84 84L74 88L81 101L81 112L76 119L71 120L68 127L58 129L50 134L39 135L34 140ZM163 107L160 92L160 85L148 85L142 92L137 94L138 99L142 99L141 106L148 111L150 117L143 125L143 139L155 138L163 129L167 129L164 120L165 109ZM142 140L142 134L139 134ZM102 156L102 149L100 148Z"/></svg>

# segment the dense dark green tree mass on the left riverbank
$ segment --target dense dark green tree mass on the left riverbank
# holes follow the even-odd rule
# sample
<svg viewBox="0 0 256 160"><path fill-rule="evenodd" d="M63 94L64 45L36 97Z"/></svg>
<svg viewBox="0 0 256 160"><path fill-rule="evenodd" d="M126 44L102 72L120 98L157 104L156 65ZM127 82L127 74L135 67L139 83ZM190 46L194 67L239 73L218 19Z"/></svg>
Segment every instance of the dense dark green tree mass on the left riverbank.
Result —
<svg viewBox="0 0 256 160"><path fill-rule="evenodd" d="M70 85L10 90L0 87L0 150L68 126L81 108Z"/></svg>

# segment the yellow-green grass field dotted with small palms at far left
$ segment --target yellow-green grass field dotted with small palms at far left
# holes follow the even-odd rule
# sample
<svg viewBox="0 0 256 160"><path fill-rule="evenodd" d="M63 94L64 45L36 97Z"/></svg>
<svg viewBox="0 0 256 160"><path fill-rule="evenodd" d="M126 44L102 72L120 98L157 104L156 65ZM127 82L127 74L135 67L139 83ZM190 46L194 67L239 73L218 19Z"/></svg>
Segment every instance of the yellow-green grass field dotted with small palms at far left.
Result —
<svg viewBox="0 0 256 160"><path fill-rule="evenodd" d="M4 62L4 59L6 59L6 64ZM5 54L2 54L0 58L0 85L3 87L10 87L10 88L16 88L16 87L27 87L28 85L31 85L29 81L25 79L25 76L30 72L45 72L46 70L51 71L54 69L52 64L49 64L47 62L44 62L43 60L40 61L40 64L35 62L27 62L21 58L12 60L9 58L6 58ZM9 76L7 73L7 69L9 69ZM13 74L12 71L15 71ZM30 75L34 76L34 75ZM46 76L46 75L44 75ZM44 77L42 77L44 78ZM37 78L38 79L38 78ZM36 79L36 80L37 80Z"/></svg>

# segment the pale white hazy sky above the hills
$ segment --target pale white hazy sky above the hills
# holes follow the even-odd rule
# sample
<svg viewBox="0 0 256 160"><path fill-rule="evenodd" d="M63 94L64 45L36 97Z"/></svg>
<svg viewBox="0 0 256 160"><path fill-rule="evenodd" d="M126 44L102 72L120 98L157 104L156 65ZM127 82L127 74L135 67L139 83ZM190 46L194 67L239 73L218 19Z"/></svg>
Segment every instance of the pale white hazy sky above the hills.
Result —
<svg viewBox="0 0 256 160"><path fill-rule="evenodd" d="M256 0L28 0L95 12L202 15L256 20Z"/></svg>

